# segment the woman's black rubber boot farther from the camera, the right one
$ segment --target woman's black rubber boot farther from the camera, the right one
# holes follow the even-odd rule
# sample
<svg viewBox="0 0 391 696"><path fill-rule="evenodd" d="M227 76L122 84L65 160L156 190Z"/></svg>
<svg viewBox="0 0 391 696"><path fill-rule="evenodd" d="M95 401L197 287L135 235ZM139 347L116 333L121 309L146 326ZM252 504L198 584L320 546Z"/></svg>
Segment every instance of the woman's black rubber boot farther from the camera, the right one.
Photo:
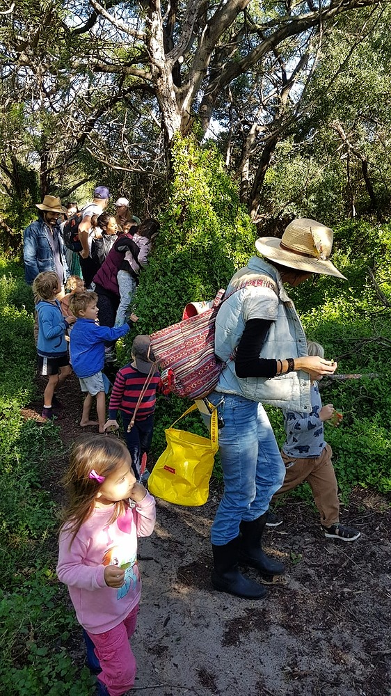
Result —
<svg viewBox="0 0 391 696"><path fill-rule="evenodd" d="M252 522L241 521L239 562L250 568L256 568L265 576L282 575L285 573L285 565L266 556L266 553L262 551L262 534L266 521L267 512Z"/></svg>

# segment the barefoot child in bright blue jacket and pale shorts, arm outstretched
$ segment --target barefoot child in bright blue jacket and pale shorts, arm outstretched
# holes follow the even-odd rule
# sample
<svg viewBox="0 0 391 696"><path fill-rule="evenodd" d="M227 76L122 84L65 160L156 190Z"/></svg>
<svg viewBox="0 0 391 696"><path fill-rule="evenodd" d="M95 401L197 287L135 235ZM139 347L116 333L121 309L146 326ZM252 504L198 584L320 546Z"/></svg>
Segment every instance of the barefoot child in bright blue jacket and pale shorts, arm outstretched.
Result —
<svg viewBox="0 0 391 696"><path fill-rule="evenodd" d="M102 372L104 367L104 342L115 341L125 336L133 322L137 321L131 314L129 321L118 328L99 326L97 323L98 296L96 292L76 292L70 297L70 311L76 317L76 323L70 335L70 357L75 374L79 377L81 391L86 392L80 425L99 425L99 433L104 432L106 422L106 393L109 380ZM90 420L93 397L97 399L98 421Z"/></svg>

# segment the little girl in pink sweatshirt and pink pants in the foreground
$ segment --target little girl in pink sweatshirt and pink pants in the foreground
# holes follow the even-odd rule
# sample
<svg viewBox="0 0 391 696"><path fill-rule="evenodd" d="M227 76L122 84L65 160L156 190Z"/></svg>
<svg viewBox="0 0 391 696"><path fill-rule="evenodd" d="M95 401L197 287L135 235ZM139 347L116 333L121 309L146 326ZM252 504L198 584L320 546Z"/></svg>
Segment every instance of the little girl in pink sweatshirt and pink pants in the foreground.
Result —
<svg viewBox="0 0 391 696"><path fill-rule="evenodd" d="M134 685L129 638L136 628L141 580L137 537L152 534L154 498L136 482L122 441L79 438L64 478L70 492L61 526L58 579L95 648L97 693L122 696ZM90 661L91 662L91 661Z"/></svg>

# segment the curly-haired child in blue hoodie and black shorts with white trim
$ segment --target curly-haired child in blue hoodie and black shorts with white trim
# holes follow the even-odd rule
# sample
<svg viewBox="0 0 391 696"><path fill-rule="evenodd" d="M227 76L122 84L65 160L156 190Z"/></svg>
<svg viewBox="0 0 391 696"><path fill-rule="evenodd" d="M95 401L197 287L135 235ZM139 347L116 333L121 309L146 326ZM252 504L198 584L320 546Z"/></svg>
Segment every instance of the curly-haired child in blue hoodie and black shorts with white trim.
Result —
<svg viewBox="0 0 391 696"><path fill-rule="evenodd" d="M44 392L42 418L47 420L58 415L61 404L56 390L72 372L65 341L65 331L74 322L74 317L64 317L56 294L61 292L58 276L54 271L38 274L33 282L35 310L38 315L38 369L49 377Z"/></svg>

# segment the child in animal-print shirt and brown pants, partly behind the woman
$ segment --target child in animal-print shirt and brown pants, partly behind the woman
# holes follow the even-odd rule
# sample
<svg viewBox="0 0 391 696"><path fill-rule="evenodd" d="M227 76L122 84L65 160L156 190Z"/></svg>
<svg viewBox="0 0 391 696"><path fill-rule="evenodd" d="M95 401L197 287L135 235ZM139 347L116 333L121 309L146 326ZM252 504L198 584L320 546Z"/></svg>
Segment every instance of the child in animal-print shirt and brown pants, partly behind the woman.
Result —
<svg viewBox="0 0 391 696"><path fill-rule="evenodd" d="M308 342L308 355L324 358L324 349L319 343ZM317 377L322 379L321 375ZM286 439L282 445L281 456L286 472L282 487L272 498L292 491L299 484L310 484L314 503L321 516L321 528L328 539L355 541L360 532L340 524L340 501L338 485L331 457L333 450L324 441L324 421L331 418L340 420L333 404L322 406L317 381L311 381L311 413L283 411ZM280 524L276 514L269 512L269 527Z"/></svg>

